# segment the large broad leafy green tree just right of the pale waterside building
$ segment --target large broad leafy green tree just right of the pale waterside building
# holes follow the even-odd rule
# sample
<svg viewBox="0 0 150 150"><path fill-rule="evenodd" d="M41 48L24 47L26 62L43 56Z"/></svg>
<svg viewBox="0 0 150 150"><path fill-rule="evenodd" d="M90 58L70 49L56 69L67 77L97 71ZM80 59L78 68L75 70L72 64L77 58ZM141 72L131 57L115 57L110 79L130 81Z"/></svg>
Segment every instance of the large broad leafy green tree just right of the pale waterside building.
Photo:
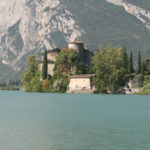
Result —
<svg viewBox="0 0 150 150"><path fill-rule="evenodd" d="M119 47L100 47L93 57L93 79L97 92L110 91L117 93L120 86L124 85L126 68L124 65L125 51Z"/></svg>

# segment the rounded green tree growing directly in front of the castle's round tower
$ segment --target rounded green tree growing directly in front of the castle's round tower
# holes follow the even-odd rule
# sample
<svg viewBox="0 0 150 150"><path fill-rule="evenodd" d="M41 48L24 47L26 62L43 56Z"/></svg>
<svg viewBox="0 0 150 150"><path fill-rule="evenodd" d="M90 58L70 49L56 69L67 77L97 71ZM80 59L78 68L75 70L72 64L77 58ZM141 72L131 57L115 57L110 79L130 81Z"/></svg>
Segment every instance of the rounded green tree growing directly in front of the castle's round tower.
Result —
<svg viewBox="0 0 150 150"><path fill-rule="evenodd" d="M56 57L57 69L68 77L76 70L78 62L79 55L74 49L66 48Z"/></svg>

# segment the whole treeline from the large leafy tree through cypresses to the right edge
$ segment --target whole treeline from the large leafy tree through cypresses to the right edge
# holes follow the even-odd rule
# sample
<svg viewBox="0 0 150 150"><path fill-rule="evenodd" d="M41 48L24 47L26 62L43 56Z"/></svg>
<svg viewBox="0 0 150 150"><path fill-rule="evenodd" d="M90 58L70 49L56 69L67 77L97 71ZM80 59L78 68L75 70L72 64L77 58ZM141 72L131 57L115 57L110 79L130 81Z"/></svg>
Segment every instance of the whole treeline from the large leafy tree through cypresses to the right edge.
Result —
<svg viewBox="0 0 150 150"><path fill-rule="evenodd" d="M139 88L150 82L150 60L142 61L140 51L134 69L132 52L128 55L121 47L99 47L93 57L93 70L97 93L119 93L132 79L138 82Z"/></svg>

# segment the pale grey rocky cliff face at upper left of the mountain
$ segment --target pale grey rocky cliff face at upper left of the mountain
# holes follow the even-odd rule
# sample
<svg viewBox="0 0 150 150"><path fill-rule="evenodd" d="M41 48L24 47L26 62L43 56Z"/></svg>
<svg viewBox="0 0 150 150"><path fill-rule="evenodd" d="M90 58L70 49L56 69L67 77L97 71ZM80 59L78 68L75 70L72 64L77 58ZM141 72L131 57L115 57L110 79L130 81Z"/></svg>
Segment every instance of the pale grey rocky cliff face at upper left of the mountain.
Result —
<svg viewBox="0 0 150 150"><path fill-rule="evenodd" d="M30 52L41 52L80 37L73 15L60 0L6 0L0 18L0 59L14 70Z"/></svg>

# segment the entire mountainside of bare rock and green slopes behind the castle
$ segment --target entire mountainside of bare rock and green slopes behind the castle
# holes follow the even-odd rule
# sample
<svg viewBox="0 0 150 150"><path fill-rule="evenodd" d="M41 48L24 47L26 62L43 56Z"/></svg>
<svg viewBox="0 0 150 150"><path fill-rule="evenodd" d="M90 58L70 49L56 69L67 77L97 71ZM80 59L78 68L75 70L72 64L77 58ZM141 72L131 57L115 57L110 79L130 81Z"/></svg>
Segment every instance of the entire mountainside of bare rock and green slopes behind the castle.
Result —
<svg viewBox="0 0 150 150"><path fill-rule="evenodd" d="M84 41L150 56L149 0L5 0L0 5L0 80L19 78L29 54Z"/></svg>

